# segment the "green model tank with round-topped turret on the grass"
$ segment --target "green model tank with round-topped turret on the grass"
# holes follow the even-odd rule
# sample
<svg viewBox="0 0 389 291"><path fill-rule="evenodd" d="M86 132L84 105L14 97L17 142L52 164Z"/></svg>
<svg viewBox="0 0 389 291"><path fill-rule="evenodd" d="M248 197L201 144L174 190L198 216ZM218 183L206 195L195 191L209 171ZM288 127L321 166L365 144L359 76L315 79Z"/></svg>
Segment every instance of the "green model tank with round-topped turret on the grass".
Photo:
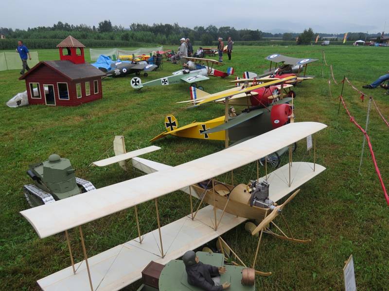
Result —
<svg viewBox="0 0 389 291"><path fill-rule="evenodd" d="M34 184L24 185L24 195L31 207L53 203L96 188L87 180L77 178L69 159L57 154L45 162L30 165L27 175Z"/></svg>

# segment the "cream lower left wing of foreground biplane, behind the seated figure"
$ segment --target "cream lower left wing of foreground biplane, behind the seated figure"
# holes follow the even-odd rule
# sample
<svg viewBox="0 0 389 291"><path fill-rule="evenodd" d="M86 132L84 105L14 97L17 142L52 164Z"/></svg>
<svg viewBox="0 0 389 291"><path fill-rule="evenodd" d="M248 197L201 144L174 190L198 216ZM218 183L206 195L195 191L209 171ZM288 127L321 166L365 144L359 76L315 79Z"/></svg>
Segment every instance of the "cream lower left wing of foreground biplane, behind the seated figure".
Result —
<svg viewBox="0 0 389 291"><path fill-rule="evenodd" d="M220 218L222 211L217 210ZM120 290L141 278L141 271L151 261L166 264L181 257L187 250L195 249L238 226L246 219L225 213L217 231L213 227L212 206L198 211L194 220L191 215L161 227L165 257L160 257L158 229L146 233L140 244L135 239L115 246L88 258L94 288L99 291ZM157 243L156 243L157 241ZM80 263L76 263L76 269ZM104 280L102 280L104 278ZM85 262L73 275L71 266L37 281L45 291L90 290Z"/></svg>

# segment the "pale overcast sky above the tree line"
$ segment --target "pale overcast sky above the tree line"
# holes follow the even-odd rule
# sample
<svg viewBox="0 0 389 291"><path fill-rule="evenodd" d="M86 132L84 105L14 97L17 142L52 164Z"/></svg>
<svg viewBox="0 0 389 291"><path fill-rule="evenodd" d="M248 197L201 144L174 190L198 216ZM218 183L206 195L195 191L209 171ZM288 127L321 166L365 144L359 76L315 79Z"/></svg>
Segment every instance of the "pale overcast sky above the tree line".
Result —
<svg viewBox="0 0 389 291"><path fill-rule="evenodd" d="M188 4L177 6L180 3ZM190 28L213 24L273 33L308 27L314 32L376 33L382 32L385 21L389 31L388 4L388 0L1 0L0 27L27 29L58 21L97 27L99 21L110 19L124 27L133 22L177 22Z"/></svg>

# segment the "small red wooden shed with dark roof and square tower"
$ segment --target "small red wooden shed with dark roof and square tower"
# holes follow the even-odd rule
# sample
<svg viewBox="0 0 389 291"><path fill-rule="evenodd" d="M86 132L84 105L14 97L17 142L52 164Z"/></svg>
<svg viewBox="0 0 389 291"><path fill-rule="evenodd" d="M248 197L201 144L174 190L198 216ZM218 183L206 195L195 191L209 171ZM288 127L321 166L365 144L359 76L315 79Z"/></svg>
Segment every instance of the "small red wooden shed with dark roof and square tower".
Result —
<svg viewBox="0 0 389 291"><path fill-rule="evenodd" d="M57 47L60 61L39 62L19 78L26 81L29 104L74 106L102 98L106 74L85 63L85 46L70 35Z"/></svg>

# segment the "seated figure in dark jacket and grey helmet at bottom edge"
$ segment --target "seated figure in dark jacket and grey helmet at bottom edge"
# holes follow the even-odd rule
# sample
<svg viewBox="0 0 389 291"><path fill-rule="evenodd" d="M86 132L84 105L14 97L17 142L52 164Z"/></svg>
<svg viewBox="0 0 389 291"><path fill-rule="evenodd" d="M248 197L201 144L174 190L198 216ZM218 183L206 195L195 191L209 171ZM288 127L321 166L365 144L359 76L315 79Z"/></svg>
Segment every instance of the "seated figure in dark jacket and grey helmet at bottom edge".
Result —
<svg viewBox="0 0 389 291"><path fill-rule="evenodd" d="M221 291L230 288L230 283L220 284L220 274L226 273L225 267L215 267L200 262L194 251L187 251L182 260L185 264L188 283L205 291Z"/></svg>

